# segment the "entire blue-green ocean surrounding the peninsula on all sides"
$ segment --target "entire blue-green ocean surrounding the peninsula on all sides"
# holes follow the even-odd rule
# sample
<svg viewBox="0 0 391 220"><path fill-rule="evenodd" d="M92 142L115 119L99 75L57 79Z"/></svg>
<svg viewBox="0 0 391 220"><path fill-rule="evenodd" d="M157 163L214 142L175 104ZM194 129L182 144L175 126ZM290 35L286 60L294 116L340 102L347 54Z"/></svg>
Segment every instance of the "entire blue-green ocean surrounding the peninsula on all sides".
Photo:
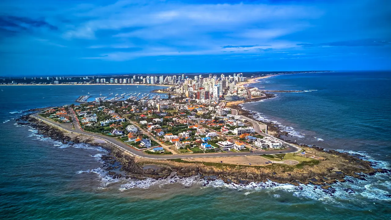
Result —
<svg viewBox="0 0 391 220"><path fill-rule="evenodd" d="M377 167L390 166L389 72L331 72L280 75L254 84L276 98L246 103L263 120L275 121L288 139L346 150ZM97 146L62 144L17 126L23 110L72 104L87 91L93 97L139 86L1 86L1 219L385 219L391 217L391 178L376 174L338 183L334 196L314 186L266 182L239 186L197 178L111 179L100 169ZM124 90L124 88L122 88ZM108 92L106 92L108 93ZM115 94L115 92L114 92ZM355 193L347 193L350 188Z"/></svg>

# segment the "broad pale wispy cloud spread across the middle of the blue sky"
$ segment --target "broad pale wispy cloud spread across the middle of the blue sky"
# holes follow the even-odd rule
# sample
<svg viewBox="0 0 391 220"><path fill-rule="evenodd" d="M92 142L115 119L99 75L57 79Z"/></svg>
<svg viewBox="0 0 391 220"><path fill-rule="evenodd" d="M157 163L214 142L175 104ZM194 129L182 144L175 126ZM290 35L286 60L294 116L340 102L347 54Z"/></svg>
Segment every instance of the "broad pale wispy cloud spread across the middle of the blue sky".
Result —
<svg viewBox="0 0 391 220"><path fill-rule="evenodd" d="M276 38L307 28L308 22L303 20L317 18L322 11L305 5L145 4L124 0L93 9L90 5L76 7L73 13L85 22L68 27L64 38L94 41L93 45L86 46L91 49L130 48L118 46L124 40L140 48L137 52L113 51L97 56L123 60L137 56L219 54L224 45L292 47L294 42ZM236 52L262 53L259 49L265 46Z"/></svg>

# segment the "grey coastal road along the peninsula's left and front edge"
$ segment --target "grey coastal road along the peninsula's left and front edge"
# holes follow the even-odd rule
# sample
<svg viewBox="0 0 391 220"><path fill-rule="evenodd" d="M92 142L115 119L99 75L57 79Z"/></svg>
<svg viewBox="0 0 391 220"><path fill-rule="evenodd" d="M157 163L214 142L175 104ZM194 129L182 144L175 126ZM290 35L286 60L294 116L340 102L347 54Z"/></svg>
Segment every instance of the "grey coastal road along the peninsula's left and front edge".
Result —
<svg viewBox="0 0 391 220"><path fill-rule="evenodd" d="M231 151L228 151L227 153L192 153L191 155L189 155L189 154L187 154L187 155L179 155L179 154L177 154L177 155L149 155L149 154L143 153L142 151L138 151L138 150L135 150L135 149L127 146L124 142L119 141L117 138L108 137L106 135L102 135L99 133L85 132L85 131L81 130L74 114L71 114L71 117L72 117L72 121L75 124L75 129L73 129L73 126L71 125L71 123L59 124L59 123L56 123L48 118L41 117L40 115L38 115L38 113L34 114L32 116L34 116L40 120L43 120L46 123L49 123L51 125L54 125L59 128L62 128L64 130L67 130L69 132L79 133L79 134L83 134L83 135L88 135L90 137L96 137L96 138L102 139L102 140L109 142L109 143L113 144L114 146L122 149L123 151L126 151L130 154L137 156L137 157L144 157L144 158L148 158L148 159L179 159L179 158L189 158L189 157L191 157L191 158L235 157L235 156L254 155L254 153L250 153L250 152L235 153L235 152L231 152ZM291 148L289 150L273 150L273 151L267 151L267 152L262 152L262 153L264 153L264 154L293 153L295 151L297 151L297 148Z"/></svg>

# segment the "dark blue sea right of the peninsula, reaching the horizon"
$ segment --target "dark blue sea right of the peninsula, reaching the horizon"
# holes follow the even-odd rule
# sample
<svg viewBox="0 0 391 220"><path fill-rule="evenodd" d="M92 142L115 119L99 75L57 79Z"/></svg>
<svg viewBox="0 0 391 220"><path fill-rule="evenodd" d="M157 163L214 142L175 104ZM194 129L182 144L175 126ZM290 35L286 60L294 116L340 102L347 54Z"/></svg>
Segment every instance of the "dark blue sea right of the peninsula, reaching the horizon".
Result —
<svg viewBox="0 0 391 220"><path fill-rule="evenodd" d="M275 93L274 99L244 104L244 108L285 125L285 130L295 135L289 139L326 148L366 151L390 160L390 83L390 72L280 75L252 86L306 92Z"/></svg>

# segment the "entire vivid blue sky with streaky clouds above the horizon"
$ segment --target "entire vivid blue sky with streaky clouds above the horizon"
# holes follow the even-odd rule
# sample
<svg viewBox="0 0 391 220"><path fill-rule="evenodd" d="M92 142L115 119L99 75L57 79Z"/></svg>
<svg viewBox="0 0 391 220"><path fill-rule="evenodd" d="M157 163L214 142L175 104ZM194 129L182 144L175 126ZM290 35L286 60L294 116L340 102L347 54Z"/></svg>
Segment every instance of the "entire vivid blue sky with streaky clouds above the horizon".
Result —
<svg viewBox="0 0 391 220"><path fill-rule="evenodd" d="M9 0L0 76L390 70L389 0Z"/></svg>

